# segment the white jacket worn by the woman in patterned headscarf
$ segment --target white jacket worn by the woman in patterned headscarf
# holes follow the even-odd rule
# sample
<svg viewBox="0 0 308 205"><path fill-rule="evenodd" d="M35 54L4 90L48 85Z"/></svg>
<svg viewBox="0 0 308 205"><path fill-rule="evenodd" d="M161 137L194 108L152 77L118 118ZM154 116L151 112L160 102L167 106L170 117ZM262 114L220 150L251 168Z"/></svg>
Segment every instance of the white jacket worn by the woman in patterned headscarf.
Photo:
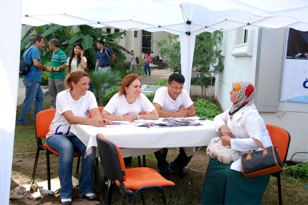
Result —
<svg viewBox="0 0 308 205"><path fill-rule="evenodd" d="M260 140L265 147L272 145L269 132L254 104L242 107L233 114L231 119L228 109L217 115L213 122L217 132L221 131L219 128L222 125L229 127L233 136L231 149L239 151L241 155L248 153L249 150L261 150L260 146L250 137ZM241 172L241 158L231 164L231 169Z"/></svg>

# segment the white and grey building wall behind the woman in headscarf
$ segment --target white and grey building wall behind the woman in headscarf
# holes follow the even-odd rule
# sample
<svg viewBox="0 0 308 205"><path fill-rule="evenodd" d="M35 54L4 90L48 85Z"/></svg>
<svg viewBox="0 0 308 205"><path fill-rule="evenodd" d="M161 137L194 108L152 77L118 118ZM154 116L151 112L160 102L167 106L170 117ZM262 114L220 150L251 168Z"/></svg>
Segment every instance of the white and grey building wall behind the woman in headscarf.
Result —
<svg viewBox="0 0 308 205"><path fill-rule="evenodd" d="M285 29L255 29L252 56L232 56L236 31L225 33L222 46L225 69L216 78L215 96L222 109L227 110L232 105L229 94L232 81L244 79L254 83L257 89L255 104L265 123L280 126L290 133L287 156L290 159L296 152L308 152L308 103L281 102L279 99L285 59L285 33ZM277 111L273 111L275 104ZM284 113L282 118L279 117L281 113ZM293 157L293 160L298 161L307 159L308 154L296 154Z"/></svg>

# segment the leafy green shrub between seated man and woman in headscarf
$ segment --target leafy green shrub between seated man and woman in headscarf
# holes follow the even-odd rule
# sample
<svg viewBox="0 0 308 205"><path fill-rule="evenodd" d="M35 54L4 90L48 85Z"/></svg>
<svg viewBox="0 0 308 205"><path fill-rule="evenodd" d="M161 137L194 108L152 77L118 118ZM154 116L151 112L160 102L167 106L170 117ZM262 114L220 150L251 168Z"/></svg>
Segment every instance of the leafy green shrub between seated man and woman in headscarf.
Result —
<svg viewBox="0 0 308 205"><path fill-rule="evenodd" d="M200 118L213 120L215 116L220 114L219 107L205 99L198 98L197 101L194 101L194 105L196 108L196 116Z"/></svg>

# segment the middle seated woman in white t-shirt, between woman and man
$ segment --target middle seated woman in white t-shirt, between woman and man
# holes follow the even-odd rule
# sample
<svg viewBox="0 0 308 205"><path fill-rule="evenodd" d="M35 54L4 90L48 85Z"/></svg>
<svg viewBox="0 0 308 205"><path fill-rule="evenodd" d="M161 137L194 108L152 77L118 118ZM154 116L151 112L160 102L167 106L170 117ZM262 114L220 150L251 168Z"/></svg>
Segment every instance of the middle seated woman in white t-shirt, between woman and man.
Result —
<svg viewBox="0 0 308 205"><path fill-rule="evenodd" d="M146 114L143 114L143 111ZM123 80L119 93L112 96L102 112L108 120L132 121L138 119L157 120L158 112L150 100L141 93L141 80L129 74ZM132 157L125 157L124 164L131 164Z"/></svg>

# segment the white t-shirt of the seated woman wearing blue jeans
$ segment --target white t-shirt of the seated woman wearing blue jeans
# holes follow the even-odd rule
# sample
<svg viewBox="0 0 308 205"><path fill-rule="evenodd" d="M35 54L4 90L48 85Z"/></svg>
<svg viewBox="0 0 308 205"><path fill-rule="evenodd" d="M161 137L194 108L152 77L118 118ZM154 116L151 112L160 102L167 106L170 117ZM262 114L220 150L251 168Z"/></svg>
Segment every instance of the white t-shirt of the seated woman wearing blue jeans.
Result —
<svg viewBox="0 0 308 205"><path fill-rule="evenodd" d="M62 113L71 110L76 117L88 118L89 111L93 108L98 108L98 106L94 94L90 91L78 100L72 98L70 89L59 92L56 99L55 118L51 122L46 138L54 134L74 135L70 132L71 125Z"/></svg>

